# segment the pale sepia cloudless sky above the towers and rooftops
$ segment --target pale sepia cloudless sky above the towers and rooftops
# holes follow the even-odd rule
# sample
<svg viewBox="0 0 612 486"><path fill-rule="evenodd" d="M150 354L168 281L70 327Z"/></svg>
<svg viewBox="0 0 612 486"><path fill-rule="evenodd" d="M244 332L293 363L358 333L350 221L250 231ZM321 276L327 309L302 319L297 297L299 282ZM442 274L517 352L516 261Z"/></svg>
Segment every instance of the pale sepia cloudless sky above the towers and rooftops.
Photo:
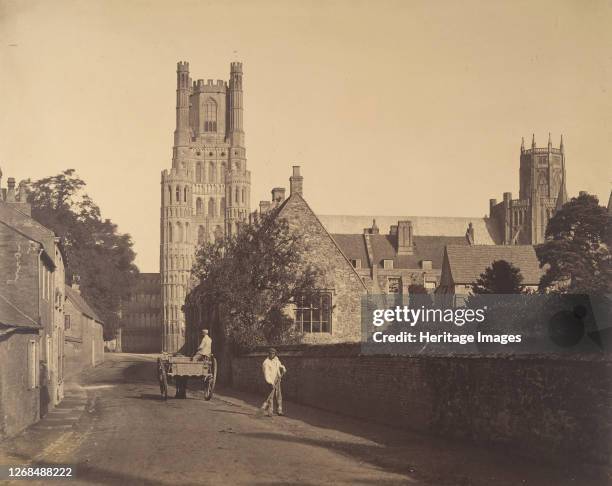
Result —
<svg viewBox="0 0 612 486"><path fill-rule="evenodd" d="M549 132L607 203L610 25L611 0L0 0L3 184L76 169L159 271L176 63L239 60L252 208L301 165L321 214L482 216Z"/></svg>

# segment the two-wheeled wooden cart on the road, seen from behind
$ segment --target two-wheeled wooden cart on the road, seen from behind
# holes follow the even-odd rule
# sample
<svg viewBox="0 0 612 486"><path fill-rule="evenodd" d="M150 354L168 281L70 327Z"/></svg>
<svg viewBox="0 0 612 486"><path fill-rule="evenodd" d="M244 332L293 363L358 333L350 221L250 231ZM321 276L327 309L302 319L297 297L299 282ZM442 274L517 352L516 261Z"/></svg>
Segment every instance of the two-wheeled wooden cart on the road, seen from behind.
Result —
<svg viewBox="0 0 612 486"><path fill-rule="evenodd" d="M163 400L168 399L168 383L172 380L176 385L176 396L185 398L189 378L197 378L201 381L204 400L210 400L217 381L217 360L211 356L205 358L204 361L192 361L188 356L172 356L163 353L157 359L157 375Z"/></svg>

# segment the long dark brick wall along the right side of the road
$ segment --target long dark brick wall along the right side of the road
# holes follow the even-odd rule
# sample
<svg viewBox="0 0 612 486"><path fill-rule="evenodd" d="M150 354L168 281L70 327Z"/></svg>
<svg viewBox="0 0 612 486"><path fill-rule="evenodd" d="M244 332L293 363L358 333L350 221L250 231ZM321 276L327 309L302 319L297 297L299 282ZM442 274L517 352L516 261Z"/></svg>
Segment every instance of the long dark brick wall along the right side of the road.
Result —
<svg viewBox="0 0 612 486"><path fill-rule="evenodd" d="M288 369L283 395L532 457L612 465L610 360L358 353L351 345L280 350ZM233 358L233 386L263 396L264 358L264 353Z"/></svg>

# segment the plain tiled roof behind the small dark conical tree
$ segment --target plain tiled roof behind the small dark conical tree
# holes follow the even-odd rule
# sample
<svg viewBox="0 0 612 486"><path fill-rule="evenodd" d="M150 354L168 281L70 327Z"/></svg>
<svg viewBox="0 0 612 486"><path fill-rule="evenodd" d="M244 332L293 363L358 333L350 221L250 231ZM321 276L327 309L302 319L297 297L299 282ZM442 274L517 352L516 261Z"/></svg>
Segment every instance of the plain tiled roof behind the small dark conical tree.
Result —
<svg viewBox="0 0 612 486"><path fill-rule="evenodd" d="M543 273L531 245L449 245L446 253L455 284L474 283L496 260L505 260L518 267L523 285L537 285Z"/></svg>

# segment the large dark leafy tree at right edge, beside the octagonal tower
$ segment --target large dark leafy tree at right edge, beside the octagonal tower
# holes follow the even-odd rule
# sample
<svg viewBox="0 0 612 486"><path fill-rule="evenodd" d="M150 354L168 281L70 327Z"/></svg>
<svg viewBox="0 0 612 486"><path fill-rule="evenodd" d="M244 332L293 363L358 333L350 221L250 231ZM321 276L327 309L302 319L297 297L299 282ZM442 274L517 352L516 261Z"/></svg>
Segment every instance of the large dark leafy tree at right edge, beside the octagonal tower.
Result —
<svg viewBox="0 0 612 486"><path fill-rule="evenodd" d="M555 213L546 241L536 248L546 273L540 290L562 293L612 291L610 216L596 196L581 193Z"/></svg>

